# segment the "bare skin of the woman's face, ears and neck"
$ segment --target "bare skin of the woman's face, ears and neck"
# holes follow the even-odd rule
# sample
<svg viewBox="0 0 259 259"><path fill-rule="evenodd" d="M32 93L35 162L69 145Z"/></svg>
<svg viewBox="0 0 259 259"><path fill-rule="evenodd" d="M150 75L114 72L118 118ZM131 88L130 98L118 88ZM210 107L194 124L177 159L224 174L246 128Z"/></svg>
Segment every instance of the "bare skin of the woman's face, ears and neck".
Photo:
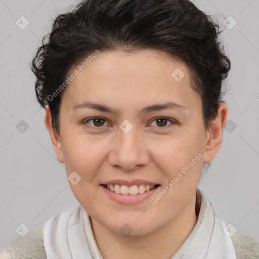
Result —
<svg viewBox="0 0 259 259"><path fill-rule="evenodd" d="M185 73L180 81L171 76L176 68ZM195 192L202 165L210 162L221 147L228 107L221 102L217 118L206 129L201 98L191 87L190 76L185 63L163 51L101 51L62 96L60 136L46 107L45 123L57 158L65 163L67 176L76 171L81 177L76 185L69 184L91 217L103 258L170 258L195 226ZM72 112L74 105L85 100L105 104L118 114L87 108ZM167 101L186 109L140 114L146 106ZM81 123L91 117L105 121ZM176 123L159 123L155 117ZM127 134L119 127L125 119L133 125ZM151 204L150 199L199 153L203 154L199 162L164 197ZM110 199L100 187L113 179L144 179L161 187L140 204L124 205ZM124 224L132 229L128 236L120 231Z"/></svg>

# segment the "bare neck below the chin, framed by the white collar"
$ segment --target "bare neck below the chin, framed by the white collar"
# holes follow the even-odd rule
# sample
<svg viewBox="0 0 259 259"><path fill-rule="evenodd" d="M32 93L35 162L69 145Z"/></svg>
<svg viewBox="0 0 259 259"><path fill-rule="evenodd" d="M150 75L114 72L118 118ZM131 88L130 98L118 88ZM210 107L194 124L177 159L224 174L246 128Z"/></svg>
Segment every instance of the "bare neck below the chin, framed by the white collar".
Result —
<svg viewBox="0 0 259 259"><path fill-rule="evenodd" d="M93 218L90 219L97 246L104 259L168 259L176 253L192 232L197 222L197 212L199 206L194 196L175 219L155 231L138 236L119 235Z"/></svg>

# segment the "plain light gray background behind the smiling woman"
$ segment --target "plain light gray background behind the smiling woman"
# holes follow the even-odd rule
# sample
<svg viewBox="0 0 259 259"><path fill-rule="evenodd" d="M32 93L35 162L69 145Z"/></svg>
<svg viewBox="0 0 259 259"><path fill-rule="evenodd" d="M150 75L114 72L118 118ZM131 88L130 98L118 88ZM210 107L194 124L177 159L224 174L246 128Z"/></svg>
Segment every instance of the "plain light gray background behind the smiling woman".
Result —
<svg viewBox="0 0 259 259"><path fill-rule="evenodd" d="M259 239L259 2L193 3L218 19L222 28L229 16L237 22L222 34L232 65L225 97L228 129L225 127L223 145L199 187L223 220ZM20 224L31 229L78 204L65 166L52 147L29 69L56 11L75 4L72 0L0 0L0 252L19 236ZM29 21L23 30L16 25L21 16ZM23 133L18 130L21 120L29 125Z"/></svg>

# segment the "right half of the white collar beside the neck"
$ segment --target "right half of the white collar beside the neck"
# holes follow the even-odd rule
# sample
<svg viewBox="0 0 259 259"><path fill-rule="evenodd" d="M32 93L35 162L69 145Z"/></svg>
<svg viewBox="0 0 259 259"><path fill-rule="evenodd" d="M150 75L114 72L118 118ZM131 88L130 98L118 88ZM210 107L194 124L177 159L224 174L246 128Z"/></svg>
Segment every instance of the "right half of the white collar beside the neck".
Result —
<svg viewBox="0 0 259 259"><path fill-rule="evenodd" d="M171 259L236 259L231 237L224 232L226 223L215 214L210 202L197 189L196 202L199 201L197 222Z"/></svg>

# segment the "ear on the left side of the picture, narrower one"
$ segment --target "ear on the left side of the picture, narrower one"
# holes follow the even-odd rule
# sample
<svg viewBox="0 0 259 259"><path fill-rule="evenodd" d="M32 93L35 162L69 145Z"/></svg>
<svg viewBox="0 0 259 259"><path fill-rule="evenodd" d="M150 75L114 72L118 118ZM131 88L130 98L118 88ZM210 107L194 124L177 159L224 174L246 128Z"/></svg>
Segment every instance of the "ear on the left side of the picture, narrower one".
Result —
<svg viewBox="0 0 259 259"><path fill-rule="evenodd" d="M64 163L63 151L62 151L62 147L61 147L61 139L60 139L59 135L57 134L57 131L53 127L52 116L51 116L49 105L47 105L45 107L44 121L45 121L45 125L48 129L48 132L50 134L52 146L56 152L57 158L61 163Z"/></svg>

